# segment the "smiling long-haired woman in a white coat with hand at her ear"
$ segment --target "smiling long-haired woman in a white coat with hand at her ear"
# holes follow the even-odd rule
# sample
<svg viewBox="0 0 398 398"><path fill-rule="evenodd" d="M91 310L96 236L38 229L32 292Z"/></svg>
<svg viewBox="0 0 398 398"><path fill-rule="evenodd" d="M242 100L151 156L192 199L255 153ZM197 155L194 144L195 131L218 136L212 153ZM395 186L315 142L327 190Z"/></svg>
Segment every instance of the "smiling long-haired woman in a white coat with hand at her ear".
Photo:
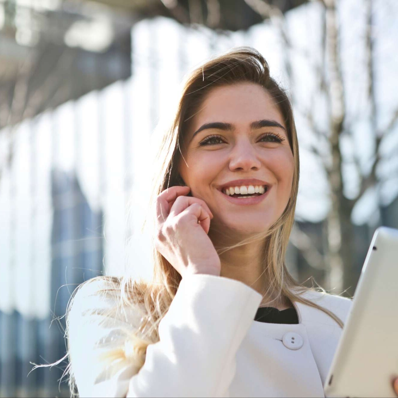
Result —
<svg viewBox="0 0 398 398"><path fill-rule="evenodd" d="M154 179L152 283L97 277L68 308L80 396L324 396L351 300L285 266L299 161L288 97L244 48L193 71Z"/></svg>

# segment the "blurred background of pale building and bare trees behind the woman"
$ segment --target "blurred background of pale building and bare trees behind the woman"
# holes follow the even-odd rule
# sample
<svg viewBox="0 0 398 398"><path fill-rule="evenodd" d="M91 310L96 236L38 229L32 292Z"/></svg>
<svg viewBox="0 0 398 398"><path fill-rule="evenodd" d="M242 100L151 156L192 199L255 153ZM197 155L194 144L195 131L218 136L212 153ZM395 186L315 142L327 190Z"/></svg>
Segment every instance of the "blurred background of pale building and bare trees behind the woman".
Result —
<svg viewBox="0 0 398 398"><path fill-rule="evenodd" d="M64 314L94 276L151 275L155 127L183 76L249 45L290 92L287 265L352 296L398 228L396 0L0 0L0 396L67 397ZM159 129L160 131L161 129Z"/></svg>

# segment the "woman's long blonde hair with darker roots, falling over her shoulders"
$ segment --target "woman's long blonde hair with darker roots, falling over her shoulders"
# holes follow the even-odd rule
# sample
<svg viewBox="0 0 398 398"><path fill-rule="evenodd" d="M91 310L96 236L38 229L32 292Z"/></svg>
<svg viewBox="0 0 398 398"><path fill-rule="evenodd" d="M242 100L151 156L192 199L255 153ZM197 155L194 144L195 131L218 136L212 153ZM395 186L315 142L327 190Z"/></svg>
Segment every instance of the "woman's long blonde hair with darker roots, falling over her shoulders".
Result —
<svg viewBox="0 0 398 398"><path fill-rule="evenodd" d="M271 78L267 61L255 49L241 47L220 55L205 62L189 74L178 103L178 108L170 129L166 131L160 142L157 154L159 161L156 175L152 180L151 203L154 204L156 196L169 186L181 185L178 165L181 160L181 145L184 135L189 128L189 122L199 109L210 90L219 86L226 86L240 82L259 84L267 90L283 116L289 144L294 158L294 174L289 202L283 214L267 232L252 236L242 242L218 250L219 254L231 248L242 246L254 240L263 240L263 273L266 274L270 285L267 290L276 292L277 298L287 297L291 302L301 302L308 306L318 308L331 316L342 328L343 322L330 310L308 300L300 295L306 291L314 291L314 288L304 287L295 281L289 274L285 265L285 254L289 242L289 236L294 223L295 207L298 192L299 157L298 142L293 109L285 91ZM154 215L155 212L152 211ZM164 317L176 295L181 276L176 269L153 246L153 279L151 283L135 281L129 275L120 278L96 277L86 283L101 279L110 286L104 289L103 294L112 295L119 300L118 305L137 306L144 308L144 315L137 330L125 331L126 341L123 348L115 349L101 357L107 363L113 361L129 361L138 369L143 365L146 347L158 341L158 324ZM78 291L76 289L70 298L66 310L66 333L68 336L68 314L72 302ZM320 288L324 293L324 289ZM116 308L116 307L115 307ZM107 316L112 316L112 310ZM66 355L57 361L55 365L69 357L69 342ZM36 365L50 366L50 365ZM34 369L34 368L33 368ZM33 370L32 369L32 370ZM64 374L70 373L69 387L72 396L76 395L74 375L70 371L70 363Z"/></svg>

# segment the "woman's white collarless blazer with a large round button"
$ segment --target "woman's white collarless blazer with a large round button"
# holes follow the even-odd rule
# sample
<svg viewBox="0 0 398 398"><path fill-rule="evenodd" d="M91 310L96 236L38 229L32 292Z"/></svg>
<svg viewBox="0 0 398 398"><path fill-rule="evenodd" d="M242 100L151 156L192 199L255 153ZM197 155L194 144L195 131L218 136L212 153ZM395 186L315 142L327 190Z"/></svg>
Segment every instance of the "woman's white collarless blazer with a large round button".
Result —
<svg viewBox="0 0 398 398"><path fill-rule="evenodd" d="M124 349L139 308L113 306L95 295L101 283L76 294L69 315L72 372L80 397L324 397L323 384L341 328L324 312L294 302L298 324L254 321L261 295L242 282L212 275L185 277L148 346L139 370L127 359L106 368L96 355ZM319 292L304 297L345 322L351 300ZM96 310L93 314L92 310ZM89 311L89 312L87 312ZM100 324L101 321L101 324Z"/></svg>

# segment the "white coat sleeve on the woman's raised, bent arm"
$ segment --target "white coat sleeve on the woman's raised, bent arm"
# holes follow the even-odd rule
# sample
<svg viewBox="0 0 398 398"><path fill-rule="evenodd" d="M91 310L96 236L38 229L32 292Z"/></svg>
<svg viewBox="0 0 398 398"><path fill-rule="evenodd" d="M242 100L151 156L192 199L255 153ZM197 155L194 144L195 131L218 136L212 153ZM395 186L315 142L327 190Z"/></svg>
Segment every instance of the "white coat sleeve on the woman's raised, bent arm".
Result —
<svg viewBox="0 0 398 398"><path fill-rule="evenodd" d="M71 330L70 338L80 339L80 344L70 342L80 396L228 397L236 352L260 302L261 295L242 282L202 274L185 277L159 324L160 341L148 346L141 369L121 363L104 372L90 355L72 352L72 345L90 347L90 341ZM109 336L109 329L97 329L95 338ZM117 328L112 334L122 335Z"/></svg>

